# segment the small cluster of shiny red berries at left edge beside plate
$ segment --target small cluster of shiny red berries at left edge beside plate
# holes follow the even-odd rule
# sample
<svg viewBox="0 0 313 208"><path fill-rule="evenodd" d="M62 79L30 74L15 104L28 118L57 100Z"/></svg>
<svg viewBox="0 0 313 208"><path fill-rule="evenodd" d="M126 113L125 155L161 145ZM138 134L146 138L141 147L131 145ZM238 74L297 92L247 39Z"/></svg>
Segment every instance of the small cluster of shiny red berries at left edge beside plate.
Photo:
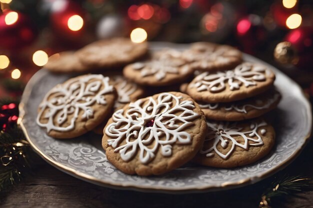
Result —
<svg viewBox="0 0 313 208"><path fill-rule="evenodd" d="M13 127L18 119L18 108L15 103L2 105L0 108L0 131Z"/></svg>

